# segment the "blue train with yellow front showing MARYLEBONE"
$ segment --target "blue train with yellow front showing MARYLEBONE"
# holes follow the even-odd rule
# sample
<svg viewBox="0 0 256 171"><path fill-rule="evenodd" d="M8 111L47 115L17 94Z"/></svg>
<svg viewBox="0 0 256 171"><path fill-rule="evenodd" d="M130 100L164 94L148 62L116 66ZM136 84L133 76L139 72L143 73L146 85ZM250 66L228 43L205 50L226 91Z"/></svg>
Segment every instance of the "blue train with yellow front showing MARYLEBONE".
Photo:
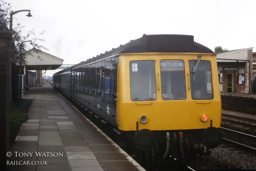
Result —
<svg viewBox="0 0 256 171"><path fill-rule="evenodd" d="M221 144L216 54L192 35L144 34L53 74L52 84L137 156L186 164Z"/></svg>

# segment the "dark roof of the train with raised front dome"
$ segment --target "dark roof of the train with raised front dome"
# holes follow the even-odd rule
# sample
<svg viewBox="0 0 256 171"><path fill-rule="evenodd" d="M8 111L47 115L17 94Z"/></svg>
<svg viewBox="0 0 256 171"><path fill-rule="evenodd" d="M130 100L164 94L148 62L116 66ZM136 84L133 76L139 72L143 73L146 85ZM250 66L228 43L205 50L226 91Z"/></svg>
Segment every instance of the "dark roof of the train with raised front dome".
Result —
<svg viewBox="0 0 256 171"><path fill-rule="evenodd" d="M96 57L87 59L87 61L80 62L73 67L66 68L65 70L57 73L62 73L70 70L71 68L80 68L84 65L98 61L109 56L118 55L120 53L149 53L149 52L176 52L176 53L214 53L208 47L201 45L194 41L192 35L179 35L179 34L144 34L139 39L131 40L130 42L113 48L105 53L100 53ZM55 73L55 74L57 74Z"/></svg>

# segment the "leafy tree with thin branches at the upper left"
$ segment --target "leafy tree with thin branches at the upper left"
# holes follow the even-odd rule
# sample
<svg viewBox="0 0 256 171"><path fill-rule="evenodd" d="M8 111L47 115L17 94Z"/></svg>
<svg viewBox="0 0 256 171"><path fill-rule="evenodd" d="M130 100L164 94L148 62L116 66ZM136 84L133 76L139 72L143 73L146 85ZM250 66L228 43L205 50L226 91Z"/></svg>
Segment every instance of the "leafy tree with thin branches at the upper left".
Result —
<svg viewBox="0 0 256 171"><path fill-rule="evenodd" d="M12 7L10 3L5 2L4 0L0 0L0 32L8 32L8 26L10 23L10 13L12 12ZM14 15L15 16L15 15ZM13 16L13 21L15 20L15 17ZM21 29L25 26L20 25L20 23L16 20L15 21L15 27L12 28L12 39L16 45L17 53L12 55L12 61L16 64L19 64L20 61L20 46L21 42L31 40L30 45L33 47L31 51L28 51L29 48L28 43L22 45L22 64L26 64L26 55L33 56L32 52L36 52L37 54L41 53L41 50L48 50L46 47L37 44L37 41L45 41L44 39L40 39L36 37L36 34L34 33L34 30L31 30L27 33L26 36L22 36ZM43 35L45 31L41 32L39 36ZM30 49L31 49L30 46ZM38 55L37 58L40 59L40 56Z"/></svg>

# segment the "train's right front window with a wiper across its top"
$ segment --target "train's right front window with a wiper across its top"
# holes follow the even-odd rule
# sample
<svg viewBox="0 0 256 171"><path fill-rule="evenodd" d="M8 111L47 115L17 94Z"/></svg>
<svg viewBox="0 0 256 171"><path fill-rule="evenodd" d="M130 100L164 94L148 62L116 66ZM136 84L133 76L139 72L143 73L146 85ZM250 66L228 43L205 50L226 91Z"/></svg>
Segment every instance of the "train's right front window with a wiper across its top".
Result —
<svg viewBox="0 0 256 171"><path fill-rule="evenodd" d="M191 74L197 60L189 61L191 96L194 100L213 99L212 68L210 61L200 60L195 74Z"/></svg>

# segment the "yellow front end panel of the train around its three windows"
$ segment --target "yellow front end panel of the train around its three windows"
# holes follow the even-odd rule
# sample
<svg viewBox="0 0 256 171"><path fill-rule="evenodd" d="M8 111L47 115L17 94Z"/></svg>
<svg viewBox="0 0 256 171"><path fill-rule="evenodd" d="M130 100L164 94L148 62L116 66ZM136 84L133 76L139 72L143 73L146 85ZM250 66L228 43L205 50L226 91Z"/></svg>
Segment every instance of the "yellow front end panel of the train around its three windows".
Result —
<svg viewBox="0 0 256 171"><path fill-rule="evenodd" d="M212 76L213 98L209 100L194 100L191 96L191 81L189 60L210 61ZM153 60L155 63L156 99L151 101L132 101L130 83L130 61ZM161 85L161 60L183 60L186 84L186 97L182 100L164 100ZM134 71L137 65L134 64ZM196 71L199 72L199 71ZM195 74L196 74L195 72ZM198 78L197 78L198 79ZM206 77L205 77L206 79ZM210 77L208 76L209 80ZM140 80L138 80L140 82ZM194 84L194 83L193 83ZM165 86L165 85L163 85ZM180 86L182 86L180 84ZM207 83L207 89L211 84ZM209 87L210 89L210 87ZM208 90L207 90L208 91ZM201 114L206 114L208 120L203 122ZM140 122L141 116L148 118L145 124ZM117 124L122 131L136 131L136 122L139 129L149 130L186 130L204 129L210 126L220 127L221 100L219 78L215 54L199 53L138 53L121 54L118 67L118 95L117 95Z"/></svg>

